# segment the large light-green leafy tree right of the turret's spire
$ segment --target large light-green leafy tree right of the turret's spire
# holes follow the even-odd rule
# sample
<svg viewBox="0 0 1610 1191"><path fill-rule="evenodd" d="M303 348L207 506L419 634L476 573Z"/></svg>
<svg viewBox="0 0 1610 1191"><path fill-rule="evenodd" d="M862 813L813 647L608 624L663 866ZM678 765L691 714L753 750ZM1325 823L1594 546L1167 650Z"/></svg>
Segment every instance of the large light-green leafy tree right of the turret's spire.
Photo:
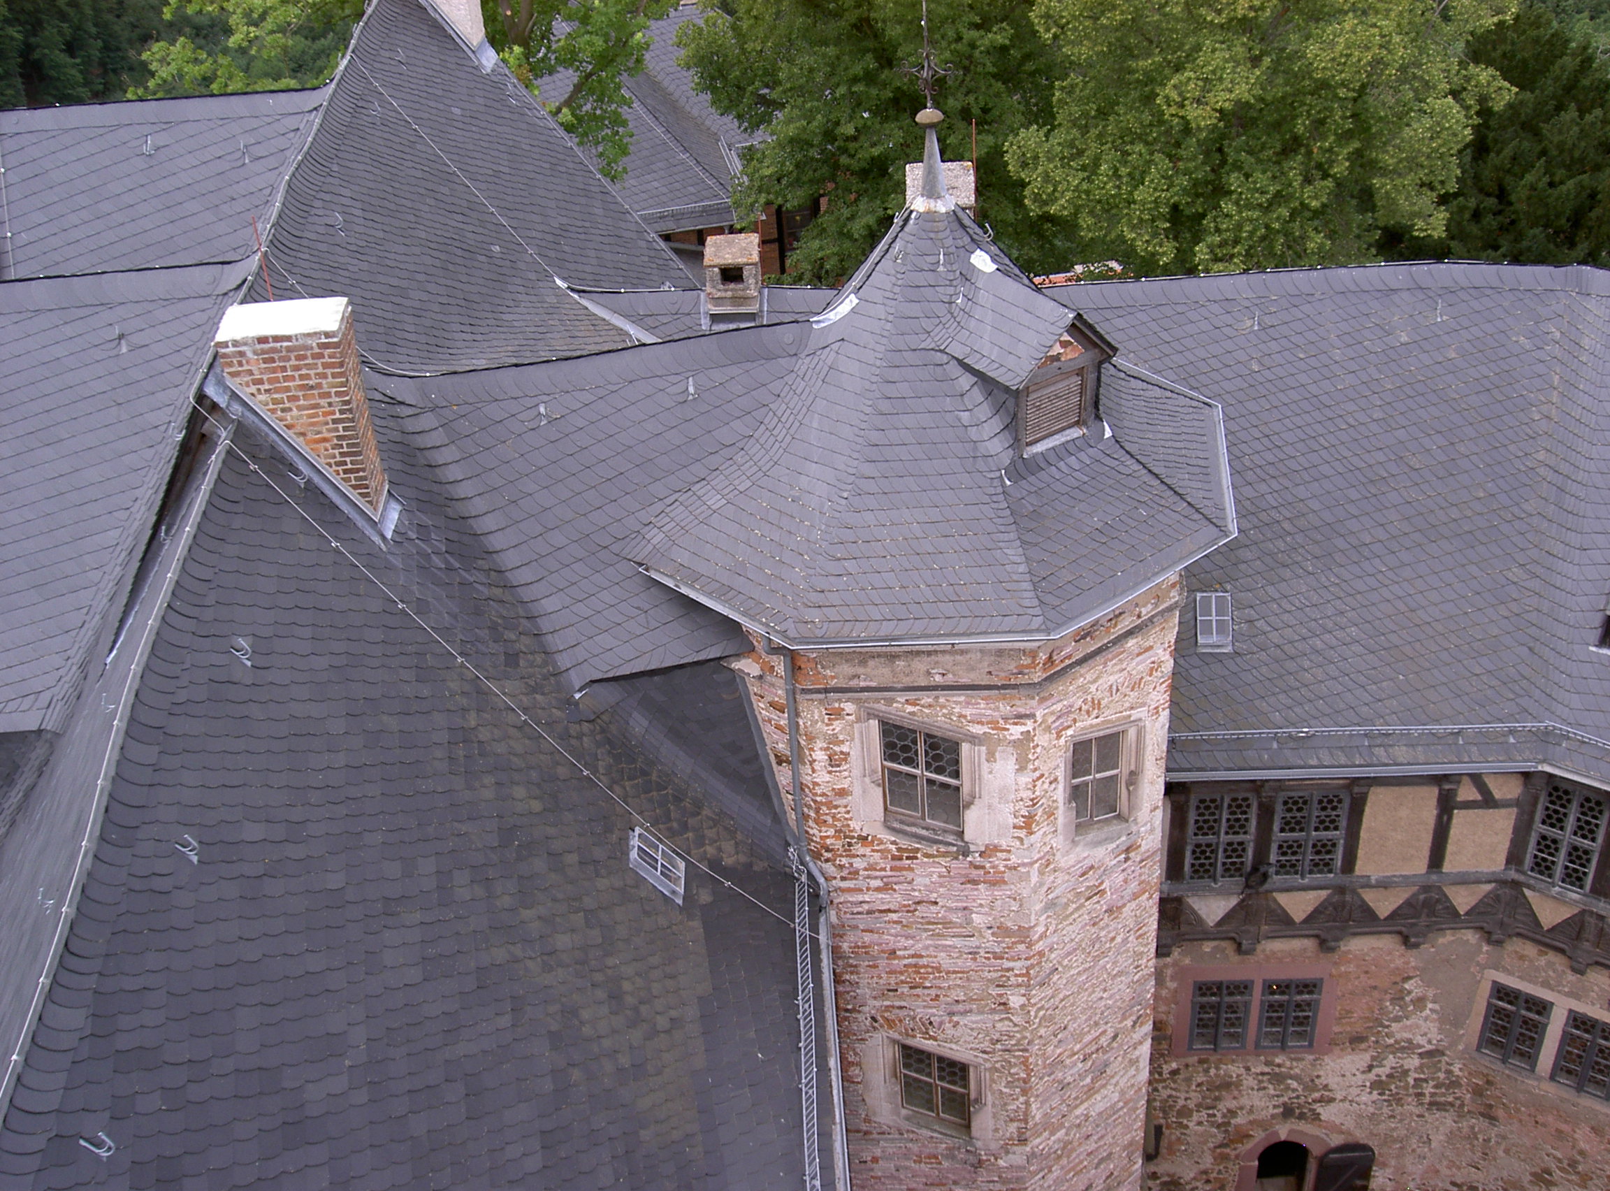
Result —
<svg viewBox="0 0 1610 1191"><path fill-rule="evenodd" d="M1483 101L1465 60L1513 0L1035 0L1055 119L1018 134L1029 203L1087 256L1196 272L1367 259L1439 235Z"/></svg>

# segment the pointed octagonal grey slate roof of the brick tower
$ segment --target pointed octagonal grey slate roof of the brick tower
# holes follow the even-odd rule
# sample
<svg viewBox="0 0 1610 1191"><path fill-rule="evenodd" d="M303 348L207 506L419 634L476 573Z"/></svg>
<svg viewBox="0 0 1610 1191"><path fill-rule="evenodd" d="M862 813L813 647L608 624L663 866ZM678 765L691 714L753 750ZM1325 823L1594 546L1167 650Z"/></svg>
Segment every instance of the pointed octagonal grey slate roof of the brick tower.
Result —
<svg viewBox="0 0 1610 1191"><path fill-rule="evenodd" d="M908 211L742 451L667 502L633 557L799 644L1043 639L1100 615L1233 525L1117 433L1177 404L1191 428L1169 449L1211 468L1217 410L1169 386L1117 385L1137 414L1113 436L1019 459L1016 388L1067 322L964 214Z"/></svg>

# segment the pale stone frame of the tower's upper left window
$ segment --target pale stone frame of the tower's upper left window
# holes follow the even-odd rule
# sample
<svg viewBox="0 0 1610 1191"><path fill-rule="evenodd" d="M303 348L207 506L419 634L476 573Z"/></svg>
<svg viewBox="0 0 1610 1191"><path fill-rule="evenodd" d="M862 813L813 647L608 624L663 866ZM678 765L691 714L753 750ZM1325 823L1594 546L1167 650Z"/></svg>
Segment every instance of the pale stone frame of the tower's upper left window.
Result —
<svg viewBox="0 0 1610 1191"><path fill-rule="evenodd" d="M948 737L961 744L961 832L924 830L921 822L894 819L886 814L882 784L882 729L890 723L913 727L919 732ZM993 790L987 779L985 755L990 745L1009 747L1006 740L993 740L977 731L969 731L945 719L913 715L903 708L884 703L860 703L855 707L855 739L852 742L850 818L861 830L887 835L905 843L919 843L958 855L971 855L972 848L1009 837L1009 790ZM997 805L1000 803L1000 805ZM997 822L1003 819L1005 822Z"/></svg>

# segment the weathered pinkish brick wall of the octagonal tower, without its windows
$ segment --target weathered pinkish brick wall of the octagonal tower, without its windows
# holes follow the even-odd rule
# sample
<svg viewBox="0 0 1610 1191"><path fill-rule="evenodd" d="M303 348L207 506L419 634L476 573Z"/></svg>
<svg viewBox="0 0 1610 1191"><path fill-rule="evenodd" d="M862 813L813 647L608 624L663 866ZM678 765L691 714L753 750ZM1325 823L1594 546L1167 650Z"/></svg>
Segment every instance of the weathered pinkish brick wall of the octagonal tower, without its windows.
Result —
<svg viewBox="0 0 1610 1191"><path fill-rule="evenodd" d="M1140 1185L1177 602L1177 584L1159 584L1043 650L800 655L805 818L832 888L860 1191ZM781 658L757 652L741 670L787 790ZM1003 813L971 855L857 819L855 726L868 708L980 742L982 797ZM1125 718L1145 724L1146 742L1130 822L1069 842L1067 742ZM889 1036L987 1070L971 1139L890 1114L876 1067Z"/></svg>

